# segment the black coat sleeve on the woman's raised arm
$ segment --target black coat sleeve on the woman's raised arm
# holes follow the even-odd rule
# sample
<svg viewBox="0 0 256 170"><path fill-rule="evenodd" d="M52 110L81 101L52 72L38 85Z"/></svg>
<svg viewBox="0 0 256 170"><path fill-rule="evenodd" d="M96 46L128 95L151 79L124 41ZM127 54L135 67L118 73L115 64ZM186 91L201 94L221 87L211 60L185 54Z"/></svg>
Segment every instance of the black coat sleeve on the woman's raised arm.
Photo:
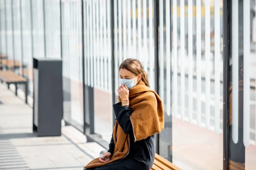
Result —
<svg viewBox="0 0 256 170"><path fill-rule="evenodd" d="M117 103L113 105L113 109L116 115L116 120L124 133L133 133L133 127L130 119L132 114L131 108L129 106L122 107L121 103Z"/></svg>

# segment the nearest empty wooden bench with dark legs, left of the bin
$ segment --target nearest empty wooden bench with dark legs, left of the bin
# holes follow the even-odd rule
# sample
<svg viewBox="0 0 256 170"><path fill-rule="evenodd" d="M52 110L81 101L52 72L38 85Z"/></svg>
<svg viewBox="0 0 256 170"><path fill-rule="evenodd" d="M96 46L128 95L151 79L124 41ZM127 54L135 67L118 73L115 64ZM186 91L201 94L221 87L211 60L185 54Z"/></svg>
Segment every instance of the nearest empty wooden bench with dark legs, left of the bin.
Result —
<svg viewBox="0 0 256 170"><path fill-rule="evenodd" d="M15 95L17 96L17 84L24 84L25 85L25 99L26 103L28 103L28 81L24 77L18 76L13 71L0 71L0 81L6 82L8 88L10 84L15 84Z"/></svg>

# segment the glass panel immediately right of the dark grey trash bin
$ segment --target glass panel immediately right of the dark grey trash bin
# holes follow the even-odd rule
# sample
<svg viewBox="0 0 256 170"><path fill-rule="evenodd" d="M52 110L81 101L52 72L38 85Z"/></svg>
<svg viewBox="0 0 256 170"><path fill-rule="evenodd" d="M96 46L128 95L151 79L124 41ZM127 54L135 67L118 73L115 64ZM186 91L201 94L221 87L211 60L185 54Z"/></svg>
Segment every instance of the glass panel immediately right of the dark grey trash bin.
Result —
<svg viewBox="0 0 256 170"><path fill-rule="evenodd" d="M81 1L62 3L64 119L83 131Z"/></svg>

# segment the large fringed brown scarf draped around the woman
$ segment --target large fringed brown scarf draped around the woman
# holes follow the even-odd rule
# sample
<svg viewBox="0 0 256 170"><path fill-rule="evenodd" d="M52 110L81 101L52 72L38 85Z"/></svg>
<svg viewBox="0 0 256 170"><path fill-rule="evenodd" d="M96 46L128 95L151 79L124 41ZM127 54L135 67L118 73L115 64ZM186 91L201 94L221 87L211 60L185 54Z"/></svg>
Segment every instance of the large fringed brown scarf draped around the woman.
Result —
<svg viewBox="0 0 256 170"><path fill-rule="evenodd" d="M130 119L135 142L160 133L164 129L164 113L162 101L157 93L142 81L134 88L129 89L129 92L130 107L133 111ZM104 166L128 155L130 149L129 135L123 132L117 121L113 128L113 139L115 149L110 161L103 163L99 161L99 158L96 158L87 164L85 169Z"/></svg>

